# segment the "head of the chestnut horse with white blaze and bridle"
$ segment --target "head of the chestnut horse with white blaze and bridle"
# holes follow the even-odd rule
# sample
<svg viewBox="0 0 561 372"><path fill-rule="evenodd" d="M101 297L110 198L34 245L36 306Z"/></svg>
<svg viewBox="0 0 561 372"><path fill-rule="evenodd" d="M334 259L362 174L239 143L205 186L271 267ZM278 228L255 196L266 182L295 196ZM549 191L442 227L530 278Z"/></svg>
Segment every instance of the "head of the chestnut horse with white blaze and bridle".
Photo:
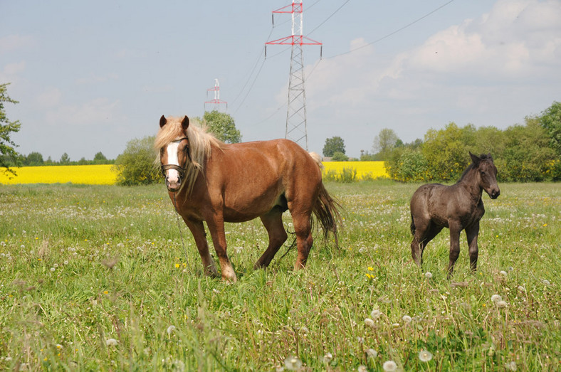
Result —
<svg viewBox="0 0 561 372"><path fill-rule="evenodd" d="M170 118L169 120L162 115L159 119L159 127L162 135L159 135L159 161L162 167L162 174L166 178L166 186L169 191L175 192L182 188L187 161L190 160L189 138L187 138L187 128L189 127L189 117L183 119Z"/></svg>

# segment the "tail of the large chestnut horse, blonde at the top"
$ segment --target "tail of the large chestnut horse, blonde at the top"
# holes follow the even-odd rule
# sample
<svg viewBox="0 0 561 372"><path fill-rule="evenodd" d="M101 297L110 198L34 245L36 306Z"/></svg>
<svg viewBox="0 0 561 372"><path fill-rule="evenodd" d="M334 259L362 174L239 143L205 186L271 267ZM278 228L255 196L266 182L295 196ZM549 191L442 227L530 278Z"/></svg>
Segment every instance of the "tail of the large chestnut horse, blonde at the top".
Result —
<svg viewBox="0 0 561 372"><path fill-rule="evenodd" d="M314 159L315 163L318 164L320 169L323 169L323 164L321 162L321 156L315 152L310 152L310 156ZM337 201L335 201L323 185L320 184L320 193L318 195L318 200L315 201L313 206L313 213L315 218L320 222L323 228L323 235L327 238L327 235L331 231L335 236L335 245L339 247L339 238L337 235L337 224L342 223L342 218L340 214L341 206Z"/></svg>

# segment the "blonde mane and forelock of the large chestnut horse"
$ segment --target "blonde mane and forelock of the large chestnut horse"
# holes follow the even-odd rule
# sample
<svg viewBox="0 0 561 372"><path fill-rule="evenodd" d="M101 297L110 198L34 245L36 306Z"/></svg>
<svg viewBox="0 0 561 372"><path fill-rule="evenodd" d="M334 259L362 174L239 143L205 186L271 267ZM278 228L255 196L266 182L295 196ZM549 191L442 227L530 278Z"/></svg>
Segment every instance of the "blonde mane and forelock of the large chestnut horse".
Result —
<svg viewBox="0 0 561 372"><path fill-rule="evenodd" d="M185 179L182 188L187 187L187 195L193 191L196 176L204 171L205 159L211 154L211 147L221 149L224 142L206 132L206 126L201 126L197 120L189 119L189 127L184 132L182 128L183 117L167 117L164 127L161 127L154 140L154 148L157 151L157 164L160 164L159 149L166 147L175 139L187 136L189 139L189 154L185 168Z"/></svg>

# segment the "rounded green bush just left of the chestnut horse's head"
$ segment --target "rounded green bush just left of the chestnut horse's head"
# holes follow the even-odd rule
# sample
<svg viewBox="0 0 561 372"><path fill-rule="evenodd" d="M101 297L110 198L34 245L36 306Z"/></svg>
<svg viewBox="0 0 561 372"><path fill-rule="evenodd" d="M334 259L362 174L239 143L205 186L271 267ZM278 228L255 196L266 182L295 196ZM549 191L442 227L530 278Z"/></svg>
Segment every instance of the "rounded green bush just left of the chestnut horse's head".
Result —
<svg viewBox="0 0 561 372"><path fill-rule="evenodd" d="M162 180L154 165L154 137L132 139L125 151L117 156L112 170L117 174L117 184L124 186L154 184Z"/></svg>

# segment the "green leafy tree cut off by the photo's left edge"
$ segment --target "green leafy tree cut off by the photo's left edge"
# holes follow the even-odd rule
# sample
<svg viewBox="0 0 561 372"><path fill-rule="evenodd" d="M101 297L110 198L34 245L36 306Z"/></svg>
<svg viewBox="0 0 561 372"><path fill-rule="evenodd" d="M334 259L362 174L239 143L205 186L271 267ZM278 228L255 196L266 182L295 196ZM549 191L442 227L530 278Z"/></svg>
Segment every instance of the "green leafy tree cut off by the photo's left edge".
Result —
<svg viewBox="0 0 561 372"><path fill-rule="evenodd" d="M18 103L16 100L12 100L8 93L7 87L9 83L0 84L0 168L3 168L4 173L9 173L11 175L16 175L16 171L10 169L10 165L19 165L19 154L16 152L17 145L11 140L11 134L19 132L21 123L19 120L11 122L8 117L6 117L6 112L4 112L4 102Z"/></svg>

